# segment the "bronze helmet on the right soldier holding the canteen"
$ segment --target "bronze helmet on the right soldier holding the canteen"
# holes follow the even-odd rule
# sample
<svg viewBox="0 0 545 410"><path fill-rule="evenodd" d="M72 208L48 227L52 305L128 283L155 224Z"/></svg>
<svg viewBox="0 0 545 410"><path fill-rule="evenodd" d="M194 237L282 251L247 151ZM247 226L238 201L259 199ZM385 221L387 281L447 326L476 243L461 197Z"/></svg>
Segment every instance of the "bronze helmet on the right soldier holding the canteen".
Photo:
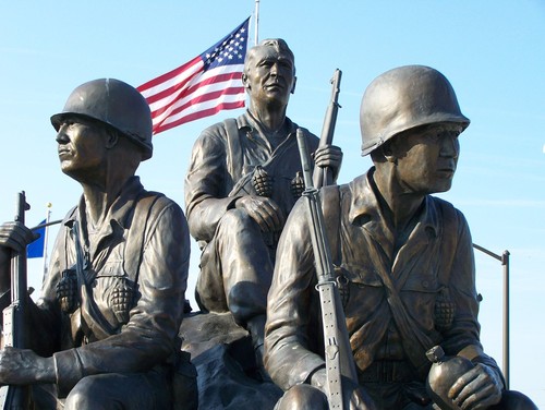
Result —
<svg viewBox="0 0 545 410"><path fill-rule="evenodd" d="M373 80L362 98L362 156L402 131L438 122L459 123L462 131L470 123L445 75L424 65L387 71Z"/></svg>

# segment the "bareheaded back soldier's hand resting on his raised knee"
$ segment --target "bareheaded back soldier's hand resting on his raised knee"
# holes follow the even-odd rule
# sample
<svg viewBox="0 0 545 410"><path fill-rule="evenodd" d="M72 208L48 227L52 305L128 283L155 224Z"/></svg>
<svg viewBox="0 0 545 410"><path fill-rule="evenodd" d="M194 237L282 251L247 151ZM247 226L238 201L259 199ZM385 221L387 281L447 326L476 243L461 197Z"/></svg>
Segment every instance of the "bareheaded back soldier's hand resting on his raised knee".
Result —
<svg viewBox="0 0 545 410"><path fill-rule="evenodd" d="M264 232L275 232L283 228L282 210L269 197L245 195L237 200L235 207L246 212Z"/></svg>

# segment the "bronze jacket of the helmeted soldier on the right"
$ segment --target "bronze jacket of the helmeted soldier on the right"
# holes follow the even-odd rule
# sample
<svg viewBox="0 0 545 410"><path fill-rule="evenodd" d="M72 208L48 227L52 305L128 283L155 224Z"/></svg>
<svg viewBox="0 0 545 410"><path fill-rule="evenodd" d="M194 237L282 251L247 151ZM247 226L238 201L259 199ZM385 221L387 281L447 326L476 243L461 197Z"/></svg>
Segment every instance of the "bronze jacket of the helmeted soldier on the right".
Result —
<svg viewBox="0 0 545 410"><path fill-rule="evenodd" d="M427 363L425 349L435 343L440 343L447 354L467 346L481 348L473 249L465 218L450 204L428 195L408 241L395 253L391 230L371 188L372 171L340 186L340 210L330 204L324 208L329 243L336 248L331 251L341 261L348 282L341 293L359 374L374 360L410 361L408 349L419 363ZM324 192L322 195L326 196ZM284 390L307 383L310 375L324 366L306 212L306 204L300 201L290 214L268 297L265 365ZM339 230L331 228L337 226ZM383 275L388 276L391 289ZM455 304L455 315L446 328L438 326L434 313L444 289ZM403 317L392 314L388 303L392 292L403 308ZM392 335L390 330L400 326L414 328L411 341L417 338L432 346L407 343L399 330ZM497 369L492 359L487 364Z"/></svg>

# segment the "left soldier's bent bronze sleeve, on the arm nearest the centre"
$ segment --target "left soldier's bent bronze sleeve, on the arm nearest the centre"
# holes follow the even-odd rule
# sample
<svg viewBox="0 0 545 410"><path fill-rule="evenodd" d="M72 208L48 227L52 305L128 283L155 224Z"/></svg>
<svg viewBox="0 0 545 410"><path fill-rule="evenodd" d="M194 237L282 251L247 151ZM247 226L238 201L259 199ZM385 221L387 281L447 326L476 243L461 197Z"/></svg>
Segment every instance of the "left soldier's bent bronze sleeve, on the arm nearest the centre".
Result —
<svg viewBox="0 0 545 410"><path fill-rule="evenodd" d="M145 372L178 349L190 261L189 229L173 202L148 222L140 266L141 298L119 334L53 354L57 383L69 391L82 377Z"/></svg>

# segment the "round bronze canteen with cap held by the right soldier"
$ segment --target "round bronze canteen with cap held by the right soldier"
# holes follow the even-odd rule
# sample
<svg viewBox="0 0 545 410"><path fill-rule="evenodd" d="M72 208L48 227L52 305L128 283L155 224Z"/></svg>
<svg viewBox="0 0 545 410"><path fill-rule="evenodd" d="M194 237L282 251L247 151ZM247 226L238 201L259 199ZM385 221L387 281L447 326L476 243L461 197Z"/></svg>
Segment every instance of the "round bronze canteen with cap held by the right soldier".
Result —
<svg viewBox="0 0 545 410"><path fill-rule="evenodd" d="M455 382L474 367L473 363L460 355L447 357L440 346L435 346L426 352L433 363L426 381L426 390L441 410L460 409L449 397L448 391Z"/></svg>

